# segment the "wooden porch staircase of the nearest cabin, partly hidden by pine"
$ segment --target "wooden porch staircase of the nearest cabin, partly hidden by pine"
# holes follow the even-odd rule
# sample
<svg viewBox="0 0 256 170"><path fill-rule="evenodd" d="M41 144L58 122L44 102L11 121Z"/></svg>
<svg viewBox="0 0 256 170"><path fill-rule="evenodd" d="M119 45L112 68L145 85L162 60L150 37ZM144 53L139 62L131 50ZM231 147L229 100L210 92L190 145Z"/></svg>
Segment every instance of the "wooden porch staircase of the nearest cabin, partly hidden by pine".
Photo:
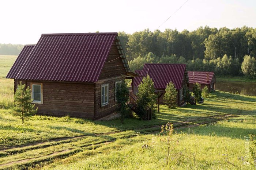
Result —
<svg viewBox="0 0 256 170"><path fill-rule="evenodd" d="M128 105L131 108L131 110L135 113L137 113L137 104L136 101L138 100L138 96L136 96L133 91L129 91L129 102ZM152 119L152 109L147 107L146 108L146 119L145 120L151 120Z"/></svg>

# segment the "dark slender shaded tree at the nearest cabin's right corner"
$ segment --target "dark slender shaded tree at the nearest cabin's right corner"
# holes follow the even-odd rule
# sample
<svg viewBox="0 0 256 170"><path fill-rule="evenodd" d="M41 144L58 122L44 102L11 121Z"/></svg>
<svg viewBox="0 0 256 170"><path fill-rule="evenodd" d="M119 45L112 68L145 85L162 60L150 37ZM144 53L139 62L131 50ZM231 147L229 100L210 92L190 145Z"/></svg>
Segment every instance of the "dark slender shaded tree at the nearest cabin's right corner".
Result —
<svg viewBox="0 0 256 170"><path fill-rule="evenodd" d="M129 112L129 108L127 106L127 102L129 100L129 90L127 88L127 84L125 82L121 82L120 88L117 89L116 98L117 103L120 105L120 115L121 115L121 123L124 123L124 117L127 116Z"/></svg>

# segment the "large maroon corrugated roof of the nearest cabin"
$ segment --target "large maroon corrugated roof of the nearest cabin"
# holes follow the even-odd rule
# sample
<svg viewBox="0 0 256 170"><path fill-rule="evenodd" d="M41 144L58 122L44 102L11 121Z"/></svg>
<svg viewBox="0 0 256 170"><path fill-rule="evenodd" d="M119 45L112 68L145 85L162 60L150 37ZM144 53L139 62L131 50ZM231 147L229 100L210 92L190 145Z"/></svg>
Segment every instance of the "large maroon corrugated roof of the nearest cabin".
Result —
<svg viewBox="0 0 256 170"><path fill-rule="evenodd" d="M96 82L114 42L124 54L116 32L42 34L30 53L24 47L7 78ZM125 56L121 59L129 72Z"/></svg>

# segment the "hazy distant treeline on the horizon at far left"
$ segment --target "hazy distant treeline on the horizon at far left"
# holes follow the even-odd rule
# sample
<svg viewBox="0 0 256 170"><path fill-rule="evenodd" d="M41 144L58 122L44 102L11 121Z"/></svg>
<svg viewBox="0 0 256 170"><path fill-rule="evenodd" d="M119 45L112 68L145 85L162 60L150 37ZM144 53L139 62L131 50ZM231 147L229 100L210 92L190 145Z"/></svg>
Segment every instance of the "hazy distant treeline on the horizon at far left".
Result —
<svg viewBox="0 0 256 170"><path fill-rule="evenodd" d="M0 44L0 55L19 55L23 47L20 44Z"/></svg>

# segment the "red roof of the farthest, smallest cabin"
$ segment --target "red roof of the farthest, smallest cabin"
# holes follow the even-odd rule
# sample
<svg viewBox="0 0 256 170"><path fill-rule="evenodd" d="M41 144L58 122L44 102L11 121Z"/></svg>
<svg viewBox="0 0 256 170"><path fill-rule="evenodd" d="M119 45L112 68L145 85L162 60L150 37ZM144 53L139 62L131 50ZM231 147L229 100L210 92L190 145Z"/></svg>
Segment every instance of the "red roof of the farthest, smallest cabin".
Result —
<svg viewBox="0 0 256 170"><path fill-rule="evenodd" d="M209 74L209 81L207 81L206 75ZM188 80L189 83L199 83L199 84L211 84L212 77L214 76L214 72L194 72L188 71Z"/></svg>

